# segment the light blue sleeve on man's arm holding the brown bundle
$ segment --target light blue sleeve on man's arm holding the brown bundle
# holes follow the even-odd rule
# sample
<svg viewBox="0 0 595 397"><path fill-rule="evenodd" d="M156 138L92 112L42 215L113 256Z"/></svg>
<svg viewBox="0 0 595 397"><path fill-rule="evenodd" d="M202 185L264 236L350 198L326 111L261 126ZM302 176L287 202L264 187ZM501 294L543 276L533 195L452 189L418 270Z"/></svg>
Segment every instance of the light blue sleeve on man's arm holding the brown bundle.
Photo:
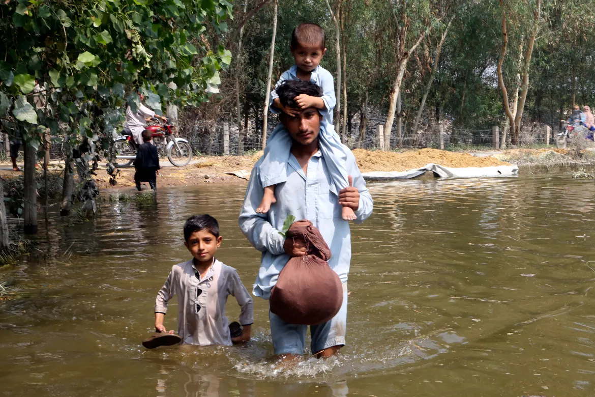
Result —
<svg viewBox="0 0 595 397"><path fill-rule="evenodd" d="M258 165L259 163L256 163L252 168L252 174L250 174L250 181L240 212L239 225L250 244L258 251L268 251L273 255L280 255L285 252L283 249L285 237L271 225L267 214L256 213L256 208L258 208L264 194L258 176Z"/></svg>

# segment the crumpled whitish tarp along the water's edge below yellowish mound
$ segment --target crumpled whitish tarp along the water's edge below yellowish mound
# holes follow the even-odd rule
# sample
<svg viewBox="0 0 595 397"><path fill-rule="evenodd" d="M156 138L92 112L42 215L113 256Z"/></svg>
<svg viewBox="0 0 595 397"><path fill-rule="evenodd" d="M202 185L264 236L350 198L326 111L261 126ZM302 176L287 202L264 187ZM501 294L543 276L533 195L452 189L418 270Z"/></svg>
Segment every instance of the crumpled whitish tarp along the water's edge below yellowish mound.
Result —
<svg viewBox="0 0 595 397"><path fill-rule="evenodd" d="M438 164L426 164L421 168L407 171L374 171L362 173L365 180L393 180L393 179L412 179L432 171L441 178L481 178L495 176L512 176L519 172L518 165L499 165L497 167L464 167L450 168Z"/></svg>

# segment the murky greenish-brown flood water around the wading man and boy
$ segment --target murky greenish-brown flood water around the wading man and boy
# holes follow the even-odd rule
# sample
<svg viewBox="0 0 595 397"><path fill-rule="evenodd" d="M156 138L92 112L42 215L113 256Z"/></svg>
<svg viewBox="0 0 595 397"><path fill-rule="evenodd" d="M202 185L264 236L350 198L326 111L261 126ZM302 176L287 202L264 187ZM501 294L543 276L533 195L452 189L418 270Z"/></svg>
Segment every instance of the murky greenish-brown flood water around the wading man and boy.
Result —
<svg viewBox="0 0 595 397"><path fill-rule="evenodd" d="M347 346L271 364L267 302L240 347L152 351L155 295L189 258L181 226L220 221L218 259L251 290L259 254L237 214L243 186L161 189L102 206L93 223L51 214L0 306L0 393L11 396L593 396L595 183L565 176L370 183L352 226ZM174 299L175 303L175 299ZM176 329L176 305L166 316ZM233 297L230 321L239 310Z"/></svg>

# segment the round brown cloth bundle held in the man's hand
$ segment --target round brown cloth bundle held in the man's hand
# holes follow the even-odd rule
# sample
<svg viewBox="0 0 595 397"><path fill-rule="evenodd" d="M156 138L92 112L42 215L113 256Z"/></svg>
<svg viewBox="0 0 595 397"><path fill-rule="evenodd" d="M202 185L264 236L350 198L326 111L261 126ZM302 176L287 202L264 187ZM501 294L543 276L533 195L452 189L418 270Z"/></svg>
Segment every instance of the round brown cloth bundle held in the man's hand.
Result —
<svg viewBox="0 0 595 397"><path fill-rule="evenodd" d="M307 255L290 258L281 270L271 291L271 312L290 324L324 323L343 304L341 279L327 263L331 251L309 220L294 222L286 238L302 239Z"/></svg>

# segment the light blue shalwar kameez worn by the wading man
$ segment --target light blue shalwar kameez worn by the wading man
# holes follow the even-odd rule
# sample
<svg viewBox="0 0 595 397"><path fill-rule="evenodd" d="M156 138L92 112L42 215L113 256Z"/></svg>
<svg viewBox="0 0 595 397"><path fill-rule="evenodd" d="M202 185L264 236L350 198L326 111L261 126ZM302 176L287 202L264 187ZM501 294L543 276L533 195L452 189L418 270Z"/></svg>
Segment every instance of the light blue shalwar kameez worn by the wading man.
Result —
<svg viewBox="0 0 595 397"><path fill-rule="evenodd" d="M289 260L283 249L285 237L279 233L287 216L293 215L297 220L310 220L320 230L331 250L328 265L343 283L343 306L331 320L311 326L311 349L315 353L331 346L345 345L351 234L349 222L341 217L339 198L330 192L331 176L327 158L318 151L308 161L304 173L297 159L290 154L285 168L287 180L275 187L277 202L271 205L267 214L257 214L256 208L262 200L265 187L260 177L263 161L261 158L252 169L239 217L240 229L250 243L262 252L261 267L252 293L269 299L279 273ZM374 203L350 151L347 152L345 167L353 176L353 186L359 191L359 207L355 211L358 217L356 222L359 223L372 214ZM269 320L275 354L303 354L308 327L286 323L271 312Z"/></svg>

